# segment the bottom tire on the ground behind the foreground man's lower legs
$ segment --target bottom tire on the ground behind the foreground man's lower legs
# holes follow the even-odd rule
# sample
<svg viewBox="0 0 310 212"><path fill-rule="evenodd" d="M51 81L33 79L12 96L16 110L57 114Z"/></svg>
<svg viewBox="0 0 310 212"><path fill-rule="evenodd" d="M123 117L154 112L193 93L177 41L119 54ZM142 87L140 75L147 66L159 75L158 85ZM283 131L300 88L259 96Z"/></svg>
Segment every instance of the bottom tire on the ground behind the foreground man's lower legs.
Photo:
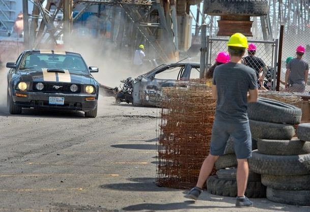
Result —
<svg viewBox="0 0 310 212"><path fill-rule="evenodd" d="M237 196L237 181L218 179L216 175L211 175L207 179L208 193L236 197ZM245 196L249 198L266 197L266 187L261 182L247 182Z"/></svg>

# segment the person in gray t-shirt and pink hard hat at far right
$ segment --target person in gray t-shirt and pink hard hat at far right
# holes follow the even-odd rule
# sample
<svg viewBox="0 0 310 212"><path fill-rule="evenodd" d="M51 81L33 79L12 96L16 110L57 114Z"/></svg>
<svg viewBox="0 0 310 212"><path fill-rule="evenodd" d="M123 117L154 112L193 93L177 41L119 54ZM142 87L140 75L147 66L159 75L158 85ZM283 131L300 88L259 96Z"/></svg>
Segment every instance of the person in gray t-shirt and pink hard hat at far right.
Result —
<svg viewBox="0 0 310 212"><path fill-rule="evenodd" d="M296 49L297 57L292 59L287 64L285 74L285 88L290 92L303 93L308 80L309 65L302 59L305 53L303 46L298 46Z"/></svg>

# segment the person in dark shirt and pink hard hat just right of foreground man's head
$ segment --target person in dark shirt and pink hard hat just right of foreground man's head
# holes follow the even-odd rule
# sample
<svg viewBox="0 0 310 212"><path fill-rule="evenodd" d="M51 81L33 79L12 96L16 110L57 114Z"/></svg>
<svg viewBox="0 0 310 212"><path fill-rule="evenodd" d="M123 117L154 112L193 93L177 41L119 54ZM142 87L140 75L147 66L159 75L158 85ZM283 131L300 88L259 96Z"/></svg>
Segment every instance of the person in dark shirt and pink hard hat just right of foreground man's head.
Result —
<svg viewBox="0 0 310 212"><path fill-rule="evenodd" d="M267 90L264 87L263 81L266 77L268 67L266 66L266 64L261 58L254 56L256 54L256 50L257 50L257 47L255 44L249 44L248 49L247 49L248 56L244 57L244 62L245 62L245 65L255 70L256 77L258 79L257 81L258 88L262 90Z"/></svg>

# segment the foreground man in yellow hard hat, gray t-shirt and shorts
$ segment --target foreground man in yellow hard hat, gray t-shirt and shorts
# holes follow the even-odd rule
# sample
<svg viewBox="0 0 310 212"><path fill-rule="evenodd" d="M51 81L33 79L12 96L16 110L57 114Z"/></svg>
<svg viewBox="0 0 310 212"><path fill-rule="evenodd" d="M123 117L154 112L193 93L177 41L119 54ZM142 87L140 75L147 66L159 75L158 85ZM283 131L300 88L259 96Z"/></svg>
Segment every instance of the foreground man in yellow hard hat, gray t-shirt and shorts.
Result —
<svg viewBox="0 0 310 212"><path fill-rule="evenodd" d="M258 84L256 72L241 63L245 49L248 47L246 37L235 33L228 42L231 62L216 66L213 73L212 97L217 99L215 119L212 127L210 154L203 162L196 186L187 197L197 199L210 175L214 163L224 154L227 140L232 137L237 157L237 207L249 207L253 203L244 196L247 177L247 159L251 157L252 140L247 117L247 104L256 102Z"/></svg>

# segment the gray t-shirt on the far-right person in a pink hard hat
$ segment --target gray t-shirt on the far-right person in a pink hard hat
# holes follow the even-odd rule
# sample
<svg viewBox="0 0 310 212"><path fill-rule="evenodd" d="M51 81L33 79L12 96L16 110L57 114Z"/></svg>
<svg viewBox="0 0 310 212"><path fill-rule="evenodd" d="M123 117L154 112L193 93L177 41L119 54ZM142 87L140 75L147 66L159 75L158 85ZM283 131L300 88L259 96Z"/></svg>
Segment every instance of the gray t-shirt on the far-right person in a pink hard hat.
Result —
<svg viewBox="0 0 310 212"><path fill-rule="evenodd" d="M294 58L288 64L287 68L291 70L289 77L290 84L304 84L304 72L309 70L309 65L302 59Z"/></svg>

